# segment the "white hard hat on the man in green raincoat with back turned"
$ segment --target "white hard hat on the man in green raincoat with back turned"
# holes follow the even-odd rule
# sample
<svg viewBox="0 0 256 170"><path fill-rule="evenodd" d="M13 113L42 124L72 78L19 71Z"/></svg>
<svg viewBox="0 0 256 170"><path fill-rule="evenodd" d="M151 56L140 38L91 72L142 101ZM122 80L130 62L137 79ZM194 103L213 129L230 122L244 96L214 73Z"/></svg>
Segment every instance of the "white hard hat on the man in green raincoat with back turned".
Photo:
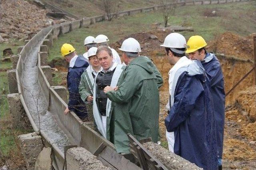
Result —
<svg viewBox="0 0 256 170"><path fill-rule="evenodd" d="M124 40L119 50L138 53L141 52L140 43L134 38L128 38Z"/></svg>

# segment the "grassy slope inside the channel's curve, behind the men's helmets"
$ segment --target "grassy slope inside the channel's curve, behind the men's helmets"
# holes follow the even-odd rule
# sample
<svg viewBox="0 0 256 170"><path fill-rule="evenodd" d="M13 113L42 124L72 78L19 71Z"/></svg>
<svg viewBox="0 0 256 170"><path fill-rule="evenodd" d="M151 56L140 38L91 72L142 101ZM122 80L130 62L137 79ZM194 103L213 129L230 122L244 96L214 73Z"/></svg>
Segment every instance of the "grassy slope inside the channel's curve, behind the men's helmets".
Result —
<svg viewBox="0 0 256 170"><path fill-rule="evenodd" d="M212 11L216 11L212 16ZM188 39L192 35L202 35L206 41L216 35L232 31L240 35L248 35L256 31L256 1L237 2L221 5L183 6L176 9L170 16L170 25L192 26L194 32L183 31ZM160 11L125 16L112 21L103 21L67 33L54 42L49 61L60 57L60 47L63 43L71 43L80 54L84 53L83 41L88 35L105 34L114 43L132 33L156 29L154 23L163 23Z"/></svg>

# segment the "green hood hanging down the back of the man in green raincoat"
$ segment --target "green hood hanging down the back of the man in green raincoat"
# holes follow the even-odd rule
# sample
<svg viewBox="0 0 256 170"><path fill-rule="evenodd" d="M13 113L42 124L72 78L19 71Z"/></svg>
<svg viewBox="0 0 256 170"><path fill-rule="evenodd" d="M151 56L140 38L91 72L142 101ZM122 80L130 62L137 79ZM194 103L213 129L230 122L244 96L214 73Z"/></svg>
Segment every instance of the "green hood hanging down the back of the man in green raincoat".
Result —
<svg viewBox="0 0 256 170"><path fill-rule="evenodd" d="M134 65L134 64L141 66L142 68L144 68L144 70L146 70L150 74L153 73L152 61L148 57L145 57L145 56L136 57L129 63L129 65Z"/></svg>

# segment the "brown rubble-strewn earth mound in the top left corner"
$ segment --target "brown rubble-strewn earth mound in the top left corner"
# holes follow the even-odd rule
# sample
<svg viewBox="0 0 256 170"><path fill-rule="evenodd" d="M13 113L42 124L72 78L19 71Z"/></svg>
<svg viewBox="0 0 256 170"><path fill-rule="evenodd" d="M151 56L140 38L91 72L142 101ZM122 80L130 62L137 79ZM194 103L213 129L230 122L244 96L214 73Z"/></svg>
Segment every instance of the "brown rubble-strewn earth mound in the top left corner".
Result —
<svg viewBox="0 0 256 170"><path fill-rule="evenodd" d="M0 5L0 35L5 39L31 38L43 27L63 21L49 19L46 17L48 10L25 0L2 0Z"/></svg>

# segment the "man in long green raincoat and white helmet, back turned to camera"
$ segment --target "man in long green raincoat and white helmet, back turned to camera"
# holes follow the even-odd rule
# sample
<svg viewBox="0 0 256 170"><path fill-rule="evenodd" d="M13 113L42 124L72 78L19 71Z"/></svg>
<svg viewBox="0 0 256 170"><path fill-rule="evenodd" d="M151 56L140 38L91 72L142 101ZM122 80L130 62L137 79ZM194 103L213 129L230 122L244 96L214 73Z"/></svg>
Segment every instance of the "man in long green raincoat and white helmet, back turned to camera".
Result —
<svg viewBox="0 0 256 170"><path fill-rule="evenodd" d="M139 56L140 44L136 39L126 39L120 50L127 67L118 80L118 86L106 86L104 92L113 104L110 141L117 152L130 153L127 133L137 140L151 137L154 143L158 141L158 89L163 79L150 59Z"/></svg>

